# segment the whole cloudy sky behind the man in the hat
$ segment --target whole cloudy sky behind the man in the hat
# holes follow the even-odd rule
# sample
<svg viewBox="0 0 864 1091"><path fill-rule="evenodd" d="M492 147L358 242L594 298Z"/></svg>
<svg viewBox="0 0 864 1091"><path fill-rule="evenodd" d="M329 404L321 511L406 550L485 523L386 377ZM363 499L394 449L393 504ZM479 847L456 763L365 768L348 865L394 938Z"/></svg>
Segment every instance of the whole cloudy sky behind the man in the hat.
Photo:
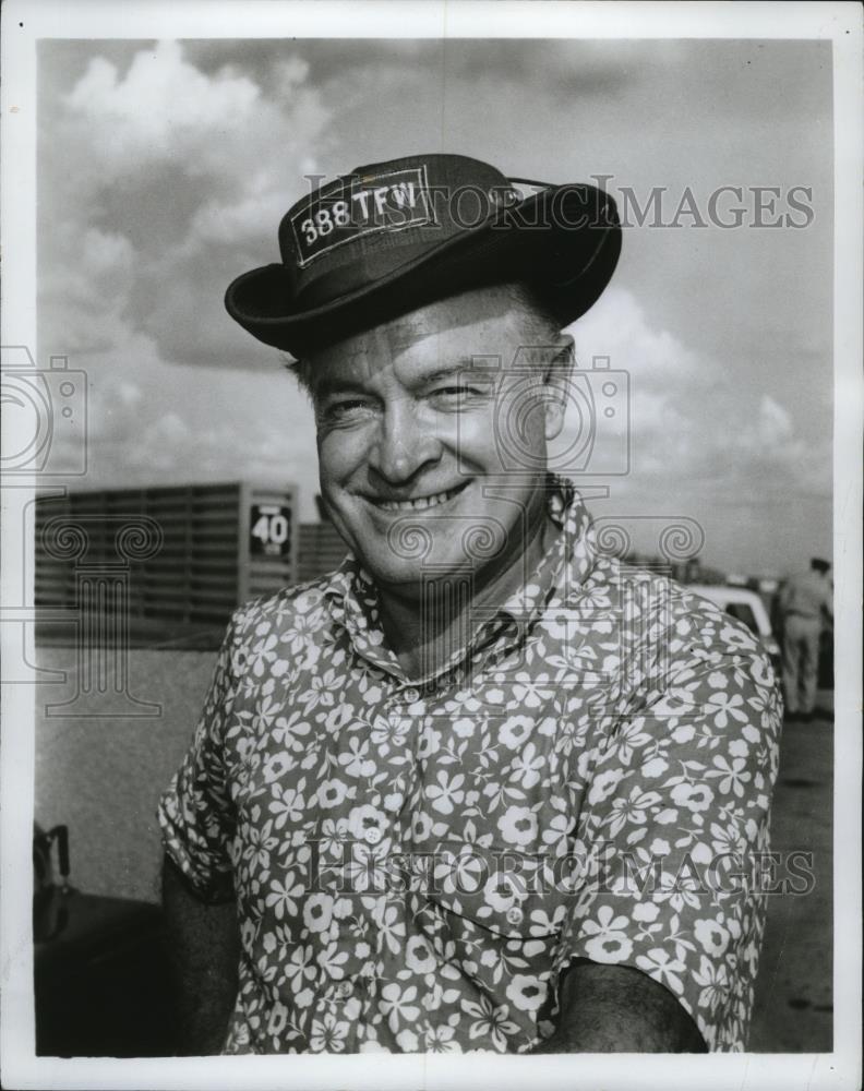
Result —
<svg viewBox="0 0 864 1091"><path fill-rule="evenodd" d="M309 407L225 288L278 260L303 175L448 151L662 188L572 331L631 376L631 472L596 514L644 548L687 516L731 571L829 554L831 125L826 43L43 41L38 350L87 373L86 484L287 479L313 517ZM739 228L710 223L727 185Z"/></svg>

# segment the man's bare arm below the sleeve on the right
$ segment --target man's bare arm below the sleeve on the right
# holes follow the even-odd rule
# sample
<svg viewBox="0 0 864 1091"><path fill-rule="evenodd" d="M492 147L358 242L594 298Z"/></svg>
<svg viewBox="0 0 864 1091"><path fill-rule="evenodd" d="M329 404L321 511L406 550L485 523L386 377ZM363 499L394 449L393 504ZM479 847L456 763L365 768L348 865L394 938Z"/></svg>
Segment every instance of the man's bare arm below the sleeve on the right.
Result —
<svg viewBox="0 0 864 1091"><path fill-rule="evenodd" d="M675 997L626 966L577 959L561 984L554 1034L532 1053L706 1053Z"/></svg>

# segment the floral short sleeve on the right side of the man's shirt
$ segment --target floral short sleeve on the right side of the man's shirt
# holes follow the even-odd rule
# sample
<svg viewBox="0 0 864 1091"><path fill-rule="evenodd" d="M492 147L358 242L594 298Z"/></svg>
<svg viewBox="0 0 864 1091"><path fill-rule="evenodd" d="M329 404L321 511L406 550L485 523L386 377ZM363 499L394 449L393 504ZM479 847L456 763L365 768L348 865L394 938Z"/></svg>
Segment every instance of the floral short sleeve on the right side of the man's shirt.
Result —
<svg viewBox="0 0 864 1091"><path fill-rule="evenodd" d="M597 757L555 958L644 971L709 1050L743 1050L765 923L781 704L745 643L692 650Z"/></svg>

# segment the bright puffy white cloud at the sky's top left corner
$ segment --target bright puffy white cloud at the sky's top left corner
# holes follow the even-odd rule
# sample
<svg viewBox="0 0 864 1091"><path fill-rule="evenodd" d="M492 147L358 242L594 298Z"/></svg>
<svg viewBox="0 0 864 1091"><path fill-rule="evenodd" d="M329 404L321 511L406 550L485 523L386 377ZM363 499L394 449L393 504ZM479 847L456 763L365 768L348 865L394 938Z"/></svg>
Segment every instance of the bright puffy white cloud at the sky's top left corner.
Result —
<svg viewBox="0 0 864 1091"><path fill-rule="evenodd" d="M212 75L200 71L177 41L140 50L122 75L104 57L92 58L61 98L55 135L63 144L67 183L93 196L117 181L146 183L152 172L172 172L176 182L196 179L202 201L211 189L242 201L248 191L262 191L262 177L284 193L297 184L297 164L314 161L329 111L305 86L303 60L288 57L281 68L278 94L265 97L232 65ZM163 195L170 216L177 194Z"/></svg>

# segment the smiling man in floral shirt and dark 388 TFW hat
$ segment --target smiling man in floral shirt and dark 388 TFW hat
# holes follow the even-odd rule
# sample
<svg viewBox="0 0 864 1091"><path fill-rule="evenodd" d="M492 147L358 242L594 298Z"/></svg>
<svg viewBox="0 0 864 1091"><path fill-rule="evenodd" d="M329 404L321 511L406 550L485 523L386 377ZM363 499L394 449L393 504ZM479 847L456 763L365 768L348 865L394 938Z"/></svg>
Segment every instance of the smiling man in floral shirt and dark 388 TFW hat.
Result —
<svg viewBox="0 0 864 1091"><path fill-rule="evenodd" d="M237 611L161 801L189 1052L743 1047L775 682L548 472L620 228L535 188L360 168L228 290L351 553Z"/></svg>

